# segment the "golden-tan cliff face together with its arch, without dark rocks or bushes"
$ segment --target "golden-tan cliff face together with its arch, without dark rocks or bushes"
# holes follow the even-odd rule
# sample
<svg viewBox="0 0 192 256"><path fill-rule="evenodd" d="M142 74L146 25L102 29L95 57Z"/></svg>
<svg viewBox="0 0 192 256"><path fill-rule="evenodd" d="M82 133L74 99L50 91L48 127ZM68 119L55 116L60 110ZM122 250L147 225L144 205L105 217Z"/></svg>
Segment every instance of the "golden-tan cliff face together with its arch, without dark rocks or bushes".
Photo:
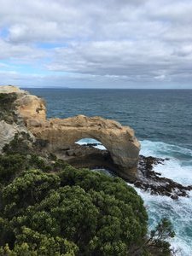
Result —
<svg viewBox="0 0 192 256"><path fill-rule="evenodd" d="M42 99L13 86L0 88L0 93L6 91L16 93L17 114L24 120L28 131L38 139L48 142L46 150L55 153L60 149L70 148L79 139L94 138L108 149L120 177L131 181L136 179L140 144L129 126L122 126L101 117L89 118L84 115L69 119L46 119L46 108ZM10 131L10 134L14 132ZM5 137L3 132L0 136ZM3 138L1 140L3 141Z"/></svg>

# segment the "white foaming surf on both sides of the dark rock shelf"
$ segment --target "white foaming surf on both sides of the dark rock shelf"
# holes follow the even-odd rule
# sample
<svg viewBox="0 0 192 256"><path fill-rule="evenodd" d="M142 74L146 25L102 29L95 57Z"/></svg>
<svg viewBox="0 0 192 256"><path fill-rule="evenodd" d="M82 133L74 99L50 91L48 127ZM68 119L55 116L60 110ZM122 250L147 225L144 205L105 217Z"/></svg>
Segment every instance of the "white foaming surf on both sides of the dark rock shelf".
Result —
<svg viewBox="0 0 192 256"><path fill-rule="evenodd" d="M162 142L141 142L141 154L169 158L164 165L154 166L155 172L160 172L163 177L172 178L183 184L192 184L192 150ZM189 198L181 197L173 201L167 196L149 195L137 189L143 197L148 211L149 227L152 229L160 218L169 218L172 221L176 236L170 242L172 247L178 249L177 256L192 255L192 193Z"/></svg>

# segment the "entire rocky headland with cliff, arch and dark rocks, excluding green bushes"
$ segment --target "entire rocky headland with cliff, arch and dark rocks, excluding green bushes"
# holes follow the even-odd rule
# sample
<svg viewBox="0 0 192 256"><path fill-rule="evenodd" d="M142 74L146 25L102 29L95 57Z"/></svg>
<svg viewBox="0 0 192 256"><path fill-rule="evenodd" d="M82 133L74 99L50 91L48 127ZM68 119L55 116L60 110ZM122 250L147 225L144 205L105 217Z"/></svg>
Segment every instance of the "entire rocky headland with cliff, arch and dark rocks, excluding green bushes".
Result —
<svg viewBox="0 0 192 256"><path fill-rule="evenodd" d="M20 142L19 150L35 150L43 157L54 154L75 167L105 168L152 195L177 199L188 196L192 186L183 186L154 172L165 160L139 156L140 143L129 126L101 117L79 115L68 119L46 119L43 99L15 86L0 87L0 153ZM78 145L82 138L96 145ZM11 146L12 145L12 146Z"/></svg>

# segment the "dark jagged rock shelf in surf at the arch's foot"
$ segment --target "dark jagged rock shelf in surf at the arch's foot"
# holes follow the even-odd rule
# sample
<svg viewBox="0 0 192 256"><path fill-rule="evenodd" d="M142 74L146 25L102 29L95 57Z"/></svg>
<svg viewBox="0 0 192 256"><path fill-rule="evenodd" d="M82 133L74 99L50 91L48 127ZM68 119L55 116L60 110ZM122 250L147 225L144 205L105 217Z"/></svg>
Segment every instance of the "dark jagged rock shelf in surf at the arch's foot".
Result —
<svg viewBox="0 0 192 256"><path fill-rule="evenodd" d="M188 191L192 186L183 186L170 178L160 177L159 172L154 172L155 165L163 165L169 159L160 159L152 156L140 155L138 164L138 178L134 185L137 188L149 191L151 195L166 195L172 199L179 196L189 196Z"/></svg>

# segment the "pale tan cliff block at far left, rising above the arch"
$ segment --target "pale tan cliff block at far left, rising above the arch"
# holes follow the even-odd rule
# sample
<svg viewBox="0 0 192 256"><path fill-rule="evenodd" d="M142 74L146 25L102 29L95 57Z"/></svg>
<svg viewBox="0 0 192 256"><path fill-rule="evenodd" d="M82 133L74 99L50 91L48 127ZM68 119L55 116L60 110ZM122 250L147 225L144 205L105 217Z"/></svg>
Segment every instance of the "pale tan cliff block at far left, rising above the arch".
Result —
<svg viewBox="0 0 192 256"><path fill-rule="evenodd" d="M20 90L11 85L0 86L0 153L18 134L28 134L31 140L35 138L27 129L26 119L45 119L44 101L30 95L26 90Z"/></svg>

